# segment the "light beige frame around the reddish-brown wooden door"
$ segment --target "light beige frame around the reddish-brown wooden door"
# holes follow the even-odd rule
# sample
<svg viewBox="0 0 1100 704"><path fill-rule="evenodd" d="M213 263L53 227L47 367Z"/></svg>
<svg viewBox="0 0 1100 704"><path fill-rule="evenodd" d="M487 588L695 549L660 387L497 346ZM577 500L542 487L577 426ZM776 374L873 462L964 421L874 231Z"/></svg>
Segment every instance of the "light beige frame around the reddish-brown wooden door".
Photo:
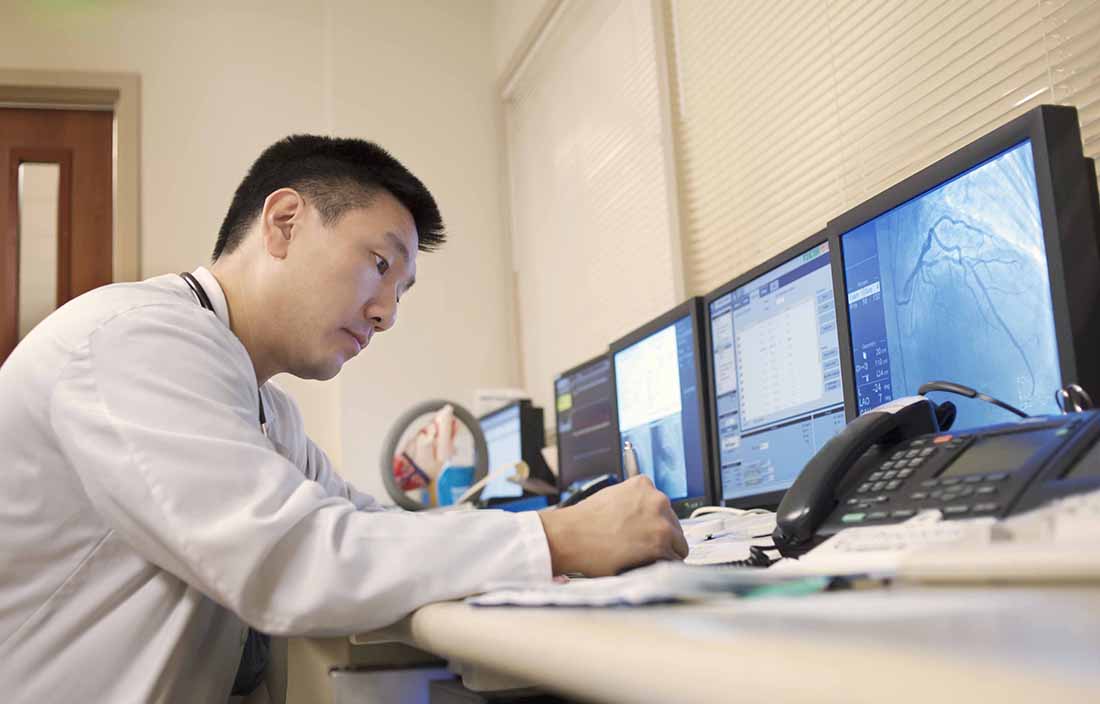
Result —
<svg viewBox="0 0 1100 704"><path fill-rule="evenodd" d="M114 113L112 280L141 278L141 80L138 74L0 68L0 108Z"/></svg>

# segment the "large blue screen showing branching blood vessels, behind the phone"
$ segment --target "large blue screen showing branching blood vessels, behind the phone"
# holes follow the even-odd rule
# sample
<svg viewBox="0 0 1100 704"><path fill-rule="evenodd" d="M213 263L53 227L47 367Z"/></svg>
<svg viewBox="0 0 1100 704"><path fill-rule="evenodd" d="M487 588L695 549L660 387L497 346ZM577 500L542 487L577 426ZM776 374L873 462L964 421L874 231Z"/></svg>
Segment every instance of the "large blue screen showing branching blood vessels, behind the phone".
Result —
<svg viewBox="0 0 1100 704"><path fill-rule="evenodd" d="M840 235L858 413L952 381L1057 413L1050 279L1024 140ZM1011 417L952 396L957 428Z"/></svg>

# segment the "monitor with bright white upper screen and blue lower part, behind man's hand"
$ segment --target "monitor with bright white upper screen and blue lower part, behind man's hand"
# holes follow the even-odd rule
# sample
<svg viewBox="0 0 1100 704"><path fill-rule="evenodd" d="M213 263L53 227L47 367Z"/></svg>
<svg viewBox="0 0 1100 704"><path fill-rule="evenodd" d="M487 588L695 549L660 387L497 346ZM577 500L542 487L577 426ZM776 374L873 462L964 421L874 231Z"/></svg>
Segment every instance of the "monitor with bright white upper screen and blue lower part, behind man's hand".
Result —
<svg viewBox="0 0 1100 704"><path fill-rule="evenodd" d="M630 441L679 516L712 497L701 320L692 298L610 345L618 448Z"/></svg>

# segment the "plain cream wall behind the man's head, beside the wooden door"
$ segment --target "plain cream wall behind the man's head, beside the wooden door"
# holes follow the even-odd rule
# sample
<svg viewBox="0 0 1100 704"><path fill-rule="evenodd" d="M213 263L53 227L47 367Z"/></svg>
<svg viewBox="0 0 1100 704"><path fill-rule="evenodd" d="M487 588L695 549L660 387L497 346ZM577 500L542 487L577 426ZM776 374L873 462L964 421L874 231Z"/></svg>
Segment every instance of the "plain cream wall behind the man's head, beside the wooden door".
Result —
<svg viewBox="0 0 1100 704"><path fill-rule="evenodd" d="M407 405L515 383L490 0L0 2L0 67L141 75L143 277L208 262L248 166L289 133L376 141L433 191L451 243L400 324L333 382L278 380L364 491Z"/></svg>

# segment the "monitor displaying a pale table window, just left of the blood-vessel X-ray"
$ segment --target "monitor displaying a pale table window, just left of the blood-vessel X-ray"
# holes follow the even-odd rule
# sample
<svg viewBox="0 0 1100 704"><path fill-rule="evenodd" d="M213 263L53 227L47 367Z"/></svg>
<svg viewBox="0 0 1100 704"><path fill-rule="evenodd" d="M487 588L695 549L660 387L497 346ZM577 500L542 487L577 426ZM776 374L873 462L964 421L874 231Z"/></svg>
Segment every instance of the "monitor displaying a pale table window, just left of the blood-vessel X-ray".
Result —
<svg viewBox="0 0 1100 704"><path fill-rule="evenodd" d="M845 424L832 251L824 232L705 297L718 499L774 508Z"/></svg>

